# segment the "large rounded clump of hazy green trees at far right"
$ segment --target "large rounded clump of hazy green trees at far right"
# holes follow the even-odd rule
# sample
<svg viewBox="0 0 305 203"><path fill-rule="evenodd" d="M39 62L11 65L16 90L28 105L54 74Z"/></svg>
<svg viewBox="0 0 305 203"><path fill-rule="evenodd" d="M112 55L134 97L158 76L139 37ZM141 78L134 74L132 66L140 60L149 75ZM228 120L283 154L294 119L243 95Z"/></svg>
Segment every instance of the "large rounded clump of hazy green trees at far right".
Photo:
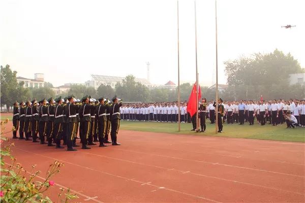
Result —
<svg viewBox="0 0 305 203"><path fill-rule="evenodd" d="M226 99L258 99L260 95L266 99L304 96L304 86L299 84L293 88L289 85L289 74L304 72L290 53L285 55L276 49L268 54L228 60L225 65L229 85L224 94Z"/></svg>

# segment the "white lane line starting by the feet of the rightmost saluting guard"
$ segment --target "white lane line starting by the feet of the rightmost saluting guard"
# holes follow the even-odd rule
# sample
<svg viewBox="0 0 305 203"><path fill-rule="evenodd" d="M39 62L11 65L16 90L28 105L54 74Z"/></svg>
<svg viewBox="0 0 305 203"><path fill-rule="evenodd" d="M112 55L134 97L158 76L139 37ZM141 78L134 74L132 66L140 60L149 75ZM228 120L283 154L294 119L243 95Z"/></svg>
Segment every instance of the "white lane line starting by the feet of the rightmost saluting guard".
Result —
<svg viewBox="0 0 305 203"><path fill-rule="evenodd" d="M243 169L246 169L246 170L262 171L262 172L273 173L273 174L282 174L282 175L287 175L287 176L295 176L295 177L305 178L305 176L299 176L299 175L294 175L294 174L285 174L285 173L280 173L280 172L273 172L273 171L267 171L267 170L261 170L261 169L257 169L257 168L249 168L249 167L243 167L243 166L237 166L237 165L229 165L229 164L224 164L224 163L213 163L213 162L208 162L208 161L186 159L186 158L179 158L179 157L173 157L173 156L164 156L164 155L160 155L160 154L152 154L152 153L147 153L147 152L139 152L139 151L133 151L133 150L117 149L117 148L116 148L116 150L129 151L129 152L135 152L135 153L141 153L141 154L149 154L149 155L154 155L154 156L160 156L160 157L165 157L165 158L173 158L173 159L179 159L179 160L186 160L186 161L194 161L194 162L199 162L199 163L219 164L219 165L228 166L228 167L243 168Z"/></svg>

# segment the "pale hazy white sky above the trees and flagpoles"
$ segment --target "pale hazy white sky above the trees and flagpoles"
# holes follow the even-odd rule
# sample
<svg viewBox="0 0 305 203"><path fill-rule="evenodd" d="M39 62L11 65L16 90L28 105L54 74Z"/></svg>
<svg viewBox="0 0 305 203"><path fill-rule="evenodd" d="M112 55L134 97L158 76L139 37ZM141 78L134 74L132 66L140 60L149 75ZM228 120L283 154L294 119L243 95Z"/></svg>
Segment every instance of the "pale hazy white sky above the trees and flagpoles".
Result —
<svg viewBox="0 0 305 203"><path fill-rule="evenodd" d="M0 64L17 76L44 73L54 86L90 74L177 83L177 1L1 1ZM197 0L199 82L215 71L215 0ZM276 48L305 66L305 1L218 0L219 83L223 62ZM180 81L194 82L194 1L179 0ZM281 25L297 25L291 29Z"/></svg>

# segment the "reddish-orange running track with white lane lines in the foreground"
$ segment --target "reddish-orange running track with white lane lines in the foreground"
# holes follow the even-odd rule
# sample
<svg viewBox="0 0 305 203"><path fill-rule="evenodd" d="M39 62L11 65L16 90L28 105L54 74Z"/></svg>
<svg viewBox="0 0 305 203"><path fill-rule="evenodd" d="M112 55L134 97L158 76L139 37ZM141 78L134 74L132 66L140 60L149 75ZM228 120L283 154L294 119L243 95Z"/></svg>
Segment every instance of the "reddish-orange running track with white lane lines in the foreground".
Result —
<svg viewBox="0 0 305 203"><path fill-rule="evenodd" d="M68 152L13 140L25 168L65 163L47 195L78 202L304 202L304 143L120 130L121 146ZM78 140L79 142L79 140Z"/></svg>

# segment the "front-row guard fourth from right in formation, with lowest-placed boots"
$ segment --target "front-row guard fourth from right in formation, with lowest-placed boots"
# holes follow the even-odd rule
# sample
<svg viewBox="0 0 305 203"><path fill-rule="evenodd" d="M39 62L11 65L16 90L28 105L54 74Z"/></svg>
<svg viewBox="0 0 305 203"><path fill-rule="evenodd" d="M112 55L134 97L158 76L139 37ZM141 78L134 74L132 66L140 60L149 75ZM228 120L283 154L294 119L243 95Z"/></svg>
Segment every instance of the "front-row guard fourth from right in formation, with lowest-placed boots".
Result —
<svg viewBox="0 0 305 203"><path fill-rule="evenodd" d="M75 145L76 135L76 110L79 109L79 105L74 104L75 98L73 95L68 96L68 103L65 107L65 113L67 118L67 151L77 151L73 148Z"/></svg>

